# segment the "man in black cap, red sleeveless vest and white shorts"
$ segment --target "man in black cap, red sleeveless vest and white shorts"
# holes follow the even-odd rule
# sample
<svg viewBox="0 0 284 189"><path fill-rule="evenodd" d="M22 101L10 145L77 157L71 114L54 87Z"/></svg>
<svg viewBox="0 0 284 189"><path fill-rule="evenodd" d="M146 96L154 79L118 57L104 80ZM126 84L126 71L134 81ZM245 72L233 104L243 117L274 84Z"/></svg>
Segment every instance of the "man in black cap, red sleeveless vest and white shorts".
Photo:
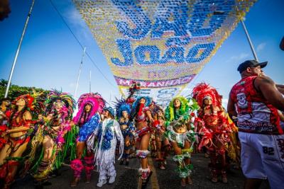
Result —
<svg viewBox="0 0 284 189"><path fill-rule="evenodd" d="M244 188L259 188L266 178L271 188L283 188L284 134L278 110L284 110L284 98L274 81L263 74L261 68L266 64L241 63L241 80L229 95L227 110L239 127Z"/></svg>

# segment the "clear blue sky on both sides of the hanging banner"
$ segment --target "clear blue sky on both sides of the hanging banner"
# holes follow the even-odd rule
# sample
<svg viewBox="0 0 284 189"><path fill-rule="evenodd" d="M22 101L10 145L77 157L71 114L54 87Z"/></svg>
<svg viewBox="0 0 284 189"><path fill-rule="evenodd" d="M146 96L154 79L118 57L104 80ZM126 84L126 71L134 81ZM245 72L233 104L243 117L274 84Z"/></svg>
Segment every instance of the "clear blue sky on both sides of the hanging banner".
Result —
<svg viewBox="0 0 284 189"><path fill-rule="evenodd" d="M11 0L10 2L9 18L0 22L0 79L9 77L18 40L31 6L31 0ZM71 0L54 1L54 4L111 83L109 84L92 62L85 57L77 94L89 91L89 70L91 70L92 91L101 93L107 101L110 98L114 101L114 96L119 96L119 91L92 33L80 18ZM280 40L284 36L283 7L284 1L281 0L259 0L251 7L245 21L258 59L268 61L264 71L278 84L284 84L284 52L279 48ZM35 1L12 83L45 89L62 88L62 91L74 93L81 57L82 48L62 22L50 1ZM253 55L239 23L236 30L224 41L222 47L183 94L188 95L194 84L205 81L216 87L226 101L231 86L240 78L236 67L246 59L253 59Z"/></svg>

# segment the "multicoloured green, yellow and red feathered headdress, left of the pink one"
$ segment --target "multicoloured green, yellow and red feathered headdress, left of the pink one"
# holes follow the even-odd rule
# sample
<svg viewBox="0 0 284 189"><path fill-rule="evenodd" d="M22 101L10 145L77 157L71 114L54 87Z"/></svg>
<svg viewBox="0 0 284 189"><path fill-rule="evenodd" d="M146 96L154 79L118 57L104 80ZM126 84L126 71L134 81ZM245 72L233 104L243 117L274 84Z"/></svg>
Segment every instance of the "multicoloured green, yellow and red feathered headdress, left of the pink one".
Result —
<svg viewBox="0 0 284 189"><path fill-rule="evenodd" d="M54 109L54 105L56 102L64 103L64 108L67 108L67 118L72 117L72 113L75 109L75 100L68 93L62 93L62 91L58 91L53 89L47 96L45 101L45 112L50 114Z"/></svg>

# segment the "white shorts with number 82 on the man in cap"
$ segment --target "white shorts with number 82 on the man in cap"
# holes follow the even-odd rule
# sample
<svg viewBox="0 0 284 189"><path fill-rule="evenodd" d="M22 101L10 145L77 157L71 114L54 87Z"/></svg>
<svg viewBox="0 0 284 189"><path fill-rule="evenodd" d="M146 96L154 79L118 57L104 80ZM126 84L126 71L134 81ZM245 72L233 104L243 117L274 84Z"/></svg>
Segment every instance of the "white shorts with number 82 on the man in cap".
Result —
<svg viewBox="0 0 284 189"><path fill-rule="evenodd" d="M271 188L283 188L284 134L239 132L241 169L246 178L268 178Z"/></svg>

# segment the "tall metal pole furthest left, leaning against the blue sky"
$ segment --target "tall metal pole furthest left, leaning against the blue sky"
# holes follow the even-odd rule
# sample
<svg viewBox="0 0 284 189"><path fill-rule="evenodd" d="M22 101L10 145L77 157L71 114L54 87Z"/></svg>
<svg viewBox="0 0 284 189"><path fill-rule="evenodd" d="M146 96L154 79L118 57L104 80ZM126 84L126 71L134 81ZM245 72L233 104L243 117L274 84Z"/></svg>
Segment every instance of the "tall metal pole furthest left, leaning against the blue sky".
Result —
<svg viewBox="0 0 284 189"><path fill-rule="evenodd" d="M11 86L11 80L12 80L12 76L13 76L13 70L15 69L15 65L16 65L16 62L17 62L17 59L18 59L18 52L20 52L20 49L21 49L21 44L22 44L22 41L23 41L23 36L25 35L26 33L26 28L28 26L28 21L31 17L31 11L33 10L33 4L35 4L35 0L33 0L32 4L31 4L31 8L30 8L30 11L28 12L28 17L26 18L26 23L25 23L25 26L23 26L23 33L21 35L21 38L20 38L20 41L18 42L18 49L16 51L16 55L15 55L15 58L13 59L13 65L12 65L12 68L11 68L11 71L10 71L10 76L9 76L9 80L8 80L8 84L7 84L7 88L6 88L6 92L5 92L5 98L7 98L8 96L8 92L9 92L9 88Z"/></svg>

